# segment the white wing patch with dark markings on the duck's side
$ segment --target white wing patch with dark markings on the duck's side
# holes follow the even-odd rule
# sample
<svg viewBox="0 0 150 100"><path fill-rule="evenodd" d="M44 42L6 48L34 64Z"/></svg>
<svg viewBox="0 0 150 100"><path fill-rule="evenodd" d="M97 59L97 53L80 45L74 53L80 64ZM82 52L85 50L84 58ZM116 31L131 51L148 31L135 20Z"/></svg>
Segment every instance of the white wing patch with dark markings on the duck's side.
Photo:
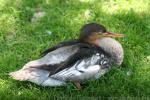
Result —
<svg viewBox="0 0 150 100"><path fill-rule="evenodd" d="M52 75L51 77L63 81L66 80L82 81L95 78L95 75L97 75L101 69L101 66L99 64L96 64L99 60L101 60L100 54L93 55L90 58L78 61L72 67L66 68Z"/></svg>

